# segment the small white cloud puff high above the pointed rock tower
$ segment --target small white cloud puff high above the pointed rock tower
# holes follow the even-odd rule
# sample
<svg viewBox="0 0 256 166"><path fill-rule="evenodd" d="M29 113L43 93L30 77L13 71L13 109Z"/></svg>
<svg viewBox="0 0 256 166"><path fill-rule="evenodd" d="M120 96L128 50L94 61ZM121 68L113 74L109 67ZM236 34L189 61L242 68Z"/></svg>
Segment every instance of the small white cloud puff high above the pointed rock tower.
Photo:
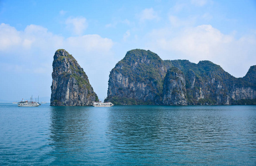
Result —
<svg viewBox="0 0 256 166"><path fill-rule="evenodd" d="M84 33L84 30L88 27L86 22L86 18L84 17L69 17L65 21L66 28L71 30L71 32L75 35L81 35Z"/></svg>

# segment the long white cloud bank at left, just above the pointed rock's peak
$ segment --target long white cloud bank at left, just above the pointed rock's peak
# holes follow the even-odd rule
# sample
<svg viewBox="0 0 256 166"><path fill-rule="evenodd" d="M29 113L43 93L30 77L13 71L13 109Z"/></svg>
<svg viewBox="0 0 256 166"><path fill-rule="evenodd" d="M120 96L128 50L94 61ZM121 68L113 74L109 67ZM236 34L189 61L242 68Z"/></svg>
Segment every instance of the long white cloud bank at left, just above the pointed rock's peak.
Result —
<svg viewBox="0 0 256 166"><path fill-rule="evenodd" d="M62 47L76 48L83 51L109 51L113 42L97 34L63 38L48 32L39 25L28 25L24 31L18 31L8 24L0 25L0 51L49 50ZM3 55L3 54L1 54Z"/></svg>

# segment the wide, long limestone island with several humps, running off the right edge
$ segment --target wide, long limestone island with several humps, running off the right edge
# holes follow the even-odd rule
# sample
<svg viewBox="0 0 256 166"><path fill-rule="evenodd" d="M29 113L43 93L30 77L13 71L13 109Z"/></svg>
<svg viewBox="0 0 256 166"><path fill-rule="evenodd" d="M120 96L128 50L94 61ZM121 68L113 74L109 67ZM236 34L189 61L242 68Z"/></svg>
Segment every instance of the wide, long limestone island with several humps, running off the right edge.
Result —
<svg viewBox="0 0 256 166"><path fill-rule="evenodd" d="M211 61L161 60L149 50L128 51L109 76L106 101L115 104L232 105L254 103L256 67L235 78Z"/></svg>

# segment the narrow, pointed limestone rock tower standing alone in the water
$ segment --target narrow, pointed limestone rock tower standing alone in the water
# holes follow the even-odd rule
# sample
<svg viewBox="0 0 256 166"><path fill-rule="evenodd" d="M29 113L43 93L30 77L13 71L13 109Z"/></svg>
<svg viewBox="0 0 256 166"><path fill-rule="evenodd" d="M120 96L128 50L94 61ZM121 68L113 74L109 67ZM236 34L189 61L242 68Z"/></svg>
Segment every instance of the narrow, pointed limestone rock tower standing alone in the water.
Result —
<svg viewBox="0 0 256 166"><path fill-rule="evenodd" d="M54 54L51 106L87 106L98 101L88 76L64 49Z"/></svg>

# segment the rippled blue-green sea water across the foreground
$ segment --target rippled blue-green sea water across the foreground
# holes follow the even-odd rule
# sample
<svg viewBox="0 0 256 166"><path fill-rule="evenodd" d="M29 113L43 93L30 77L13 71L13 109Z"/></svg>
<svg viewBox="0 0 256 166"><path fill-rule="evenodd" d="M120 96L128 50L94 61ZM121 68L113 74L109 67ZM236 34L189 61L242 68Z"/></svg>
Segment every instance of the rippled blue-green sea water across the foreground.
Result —
<svg viewBox="0 0 256 166"><path fill-rule="evenodd" d="M256 165L256 106L0 103L0 165Z"/></svg>

